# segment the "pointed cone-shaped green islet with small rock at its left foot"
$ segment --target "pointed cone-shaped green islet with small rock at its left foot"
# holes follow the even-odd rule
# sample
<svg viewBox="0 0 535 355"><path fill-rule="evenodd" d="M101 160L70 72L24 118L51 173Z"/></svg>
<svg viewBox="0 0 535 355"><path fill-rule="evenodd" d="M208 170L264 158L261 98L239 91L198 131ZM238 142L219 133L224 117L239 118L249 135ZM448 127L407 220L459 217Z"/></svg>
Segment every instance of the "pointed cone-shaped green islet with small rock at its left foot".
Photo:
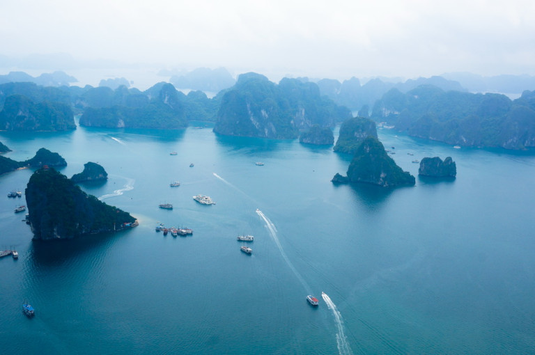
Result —
<svg viewBox="0 0 535 355"><path fill-rule="evenodd" d="M382 187L413 186L414 176L403 171L387 155L385 147L378 139L366 138L355 152L348 168L348 182L364 182ZM345 182L343 176L336 174L332 182Z"/></svg>

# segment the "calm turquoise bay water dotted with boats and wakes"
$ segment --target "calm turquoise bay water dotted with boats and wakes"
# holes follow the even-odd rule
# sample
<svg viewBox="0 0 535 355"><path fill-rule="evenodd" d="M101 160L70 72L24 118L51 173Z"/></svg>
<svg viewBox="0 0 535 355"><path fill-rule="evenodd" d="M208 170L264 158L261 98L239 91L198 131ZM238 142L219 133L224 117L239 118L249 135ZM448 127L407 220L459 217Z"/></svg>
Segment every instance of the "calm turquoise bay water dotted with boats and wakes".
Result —
<svg viewBox="0 0 535 355"><path fill-rule="evenodd" d="M379 135L413 175L412 159L451 156L458 178L334 186L350 157L332 148L211 129L1 132L7 157L45 147L65 157L69 177L98 162L109 180L82 188L140 221L116 235L33 242L13 213L24 196L6 197L32 171L0 175L0 248L20 254L0 259L2 352L535 352L535 155ZM157 223L194 235L164 237ZM240 252L243 233L255 236L253 255Z"/></svg>

